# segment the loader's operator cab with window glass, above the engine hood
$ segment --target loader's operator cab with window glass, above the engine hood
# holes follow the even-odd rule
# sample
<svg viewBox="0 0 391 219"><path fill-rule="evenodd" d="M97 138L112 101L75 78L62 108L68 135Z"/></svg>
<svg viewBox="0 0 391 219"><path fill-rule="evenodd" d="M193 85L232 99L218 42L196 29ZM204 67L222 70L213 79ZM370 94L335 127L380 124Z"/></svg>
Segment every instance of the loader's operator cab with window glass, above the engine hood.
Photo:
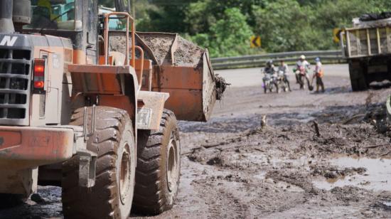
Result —
<svg viewBox="0 0 391 219"><path fill-rule="evenodd" d="M96 0L32 0L31 23L25 33L70 38L74 50L97 60L98 9ZM76 63L82 62L82 60Z"/></svg>

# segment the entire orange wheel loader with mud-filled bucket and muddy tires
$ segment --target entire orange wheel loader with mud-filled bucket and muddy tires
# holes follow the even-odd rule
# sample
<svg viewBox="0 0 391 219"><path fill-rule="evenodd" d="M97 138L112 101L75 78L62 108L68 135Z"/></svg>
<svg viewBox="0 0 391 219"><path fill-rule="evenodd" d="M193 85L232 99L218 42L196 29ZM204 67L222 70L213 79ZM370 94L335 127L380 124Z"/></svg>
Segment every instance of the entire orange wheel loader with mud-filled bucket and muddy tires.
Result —
<svg viewBox="0 0 391 219"><path fill-rule="evenodd" d="M0 204L61 186L65 218L156 215L178 193L177 119L225 90L208 50L137 33L130 5L0 1ZM125 1L126 2L126 1Z"/></svg>

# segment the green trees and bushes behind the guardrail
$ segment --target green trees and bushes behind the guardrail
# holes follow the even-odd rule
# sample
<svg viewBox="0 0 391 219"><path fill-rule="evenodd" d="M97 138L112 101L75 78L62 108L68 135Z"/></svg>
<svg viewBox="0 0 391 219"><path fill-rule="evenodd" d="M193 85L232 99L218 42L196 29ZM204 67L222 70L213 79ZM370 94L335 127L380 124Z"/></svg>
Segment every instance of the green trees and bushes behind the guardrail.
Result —
<svg viewBox="0 0 391 219"><path fill-rule="evenodd" d="M390 0L135 0L138 31L181 33L213 57L336 49L333 28L391 11ZM262 49L250 49L250 37Z"/></svg>

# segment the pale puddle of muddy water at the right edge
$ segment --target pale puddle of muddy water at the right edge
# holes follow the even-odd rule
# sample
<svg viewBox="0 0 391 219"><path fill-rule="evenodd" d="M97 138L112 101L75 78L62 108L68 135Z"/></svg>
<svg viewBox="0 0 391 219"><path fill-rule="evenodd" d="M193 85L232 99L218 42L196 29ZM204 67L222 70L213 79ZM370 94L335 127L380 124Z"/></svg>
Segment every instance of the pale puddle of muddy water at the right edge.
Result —
<svg viewBox="0 0 391 219"><path fill-rule="evenodd" d="M316 187L331 190L335 187L357 186L373 191L391 191L391 159L340 157L331 159L330 163L341 169L363 167L367 171L353 176L322 178L313 182Z"/></svg>

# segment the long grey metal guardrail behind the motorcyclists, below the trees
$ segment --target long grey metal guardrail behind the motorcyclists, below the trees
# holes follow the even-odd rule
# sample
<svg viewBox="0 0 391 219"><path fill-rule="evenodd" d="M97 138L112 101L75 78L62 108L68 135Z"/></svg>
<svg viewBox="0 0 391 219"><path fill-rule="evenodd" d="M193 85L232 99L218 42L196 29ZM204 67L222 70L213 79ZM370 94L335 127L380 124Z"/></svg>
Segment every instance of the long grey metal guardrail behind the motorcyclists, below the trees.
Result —
<svg viewBox="0 0 391 219"><path fill-rule="evenodd" d="M307 60L313 60L316 57L321 60L341 61L344 60L341 50L320 50L320 51L301 51L301 52L286 52L286 53L269 53L262 55L244 55L228 58L212 58L211 63L215 69L224 68L240 68L240 67L256 67L263 66L267 60L279 62L296 61L300 55L306 55Z"/></svg>

